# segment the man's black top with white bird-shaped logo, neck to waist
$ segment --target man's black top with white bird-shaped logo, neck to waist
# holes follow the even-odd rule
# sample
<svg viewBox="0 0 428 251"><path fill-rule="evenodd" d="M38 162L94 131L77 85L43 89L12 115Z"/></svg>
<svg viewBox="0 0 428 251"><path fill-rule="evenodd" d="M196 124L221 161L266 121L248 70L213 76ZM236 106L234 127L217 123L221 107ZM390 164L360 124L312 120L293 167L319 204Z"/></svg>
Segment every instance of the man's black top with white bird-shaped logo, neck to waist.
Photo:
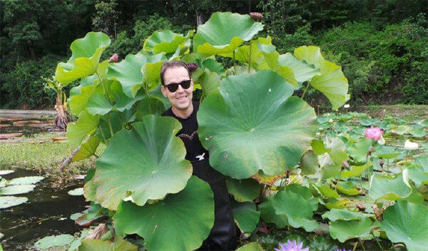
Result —
<svg viewBox="0 0 428 251"><path fill-rule="evenodd" d="M192 162L208 160L208 151L203 148L198 136L198 121L196 120L198 109L199 103L193 102L193 113L188 118L178 118L171 108L162 113L162 116L170 116L180 121L183 128L178 131L177 136L183 140L186 150L185 159Z"/></svg>

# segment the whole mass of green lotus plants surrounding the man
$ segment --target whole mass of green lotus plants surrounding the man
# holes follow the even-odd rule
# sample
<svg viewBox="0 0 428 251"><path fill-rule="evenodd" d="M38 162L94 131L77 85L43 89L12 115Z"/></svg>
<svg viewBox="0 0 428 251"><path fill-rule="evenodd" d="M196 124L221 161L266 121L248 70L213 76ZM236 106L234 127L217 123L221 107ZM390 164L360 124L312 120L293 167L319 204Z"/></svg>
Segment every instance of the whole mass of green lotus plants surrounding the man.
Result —
<svg viewBox="0 0 428 251"><path fill-rule="evenodd" d="M198 66L192 78L202 92L199 138L213 168L228 176L240 248L260 250L260 235L284 229L325 232L345 244L387 237L409 251L428 245L427 145L404 151L390 144L392 135L424 138L428 121L409 126L362 113L317 117L304 101L309 88L325 95L333 110L350 98L341 67L316 46L280 54L270 36L255 37L262 30L249 15L215 13L196 34L156 31L140 52L113 55L110 62L101 61L111 42L106 34L71 44L72 56L58 63L55 78L63 86L80 81L68 101L78 116L67 128L68 140L81 147L74 160L106 145L86 175L91 208L76 222L105 216L114 229L101 240L81 235L74 250L195 250L213 226L213 195L191 176L175 137L180 123L159 116L168 107L159 78L167 60ZM225 58L232 65L223 65ZM144 241L128 242L131 234ZM280 250L308 250L291 239L281 243Z"/></svg>

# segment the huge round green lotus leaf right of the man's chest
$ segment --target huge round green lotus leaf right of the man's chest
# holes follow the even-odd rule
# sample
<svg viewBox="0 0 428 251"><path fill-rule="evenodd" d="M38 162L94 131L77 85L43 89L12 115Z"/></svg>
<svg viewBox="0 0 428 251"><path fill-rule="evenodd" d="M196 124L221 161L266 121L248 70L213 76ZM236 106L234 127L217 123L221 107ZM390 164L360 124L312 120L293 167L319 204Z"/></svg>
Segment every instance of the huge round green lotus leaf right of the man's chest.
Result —
<svg viewBox="0 0 428 251"><path fill-rule="evenodd" d="M213 168L243 179L296 165L317 128L314 109L291 94L292 86L272 71L225 78L198 112Z"/></svg>

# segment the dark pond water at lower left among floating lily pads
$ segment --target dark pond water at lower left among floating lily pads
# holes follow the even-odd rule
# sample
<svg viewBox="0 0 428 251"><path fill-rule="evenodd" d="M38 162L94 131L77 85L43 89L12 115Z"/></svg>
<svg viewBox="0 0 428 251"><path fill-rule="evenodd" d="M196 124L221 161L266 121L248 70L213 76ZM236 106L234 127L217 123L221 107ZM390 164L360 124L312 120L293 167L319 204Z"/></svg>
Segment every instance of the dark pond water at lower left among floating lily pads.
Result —
<svg viewBox="0 0 428 251"><path fill-rule="evenodd" d="M39 175L35 171L18 169L3 178ZM43 176L43 175L41 175ZM36 188L21 196L29 198L27 203L0 211L0 232L4 234L1 245L4 250L36 250L34 242L49 235L71 234L80 227L70 220L70 215L85 210L83 196L68 195L68 191L83 186L83 180L67 188L52 188L46 178L36 183ZM17 195L20 196L20 195Z"/></svg>

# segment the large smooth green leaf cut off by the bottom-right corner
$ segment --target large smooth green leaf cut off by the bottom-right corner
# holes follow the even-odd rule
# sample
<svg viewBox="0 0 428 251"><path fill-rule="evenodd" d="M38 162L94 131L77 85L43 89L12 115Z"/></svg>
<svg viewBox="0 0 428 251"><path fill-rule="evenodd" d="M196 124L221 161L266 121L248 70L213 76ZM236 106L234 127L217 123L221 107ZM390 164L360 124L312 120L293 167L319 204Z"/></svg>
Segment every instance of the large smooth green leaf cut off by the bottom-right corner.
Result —
<svg viewBox="0 0 428 251"><path fill-rule="evenodd" d="M380 229L392 242L404 242L409 251L424 250L428 247L428 209L399 200L384 211Z"/></svg>

